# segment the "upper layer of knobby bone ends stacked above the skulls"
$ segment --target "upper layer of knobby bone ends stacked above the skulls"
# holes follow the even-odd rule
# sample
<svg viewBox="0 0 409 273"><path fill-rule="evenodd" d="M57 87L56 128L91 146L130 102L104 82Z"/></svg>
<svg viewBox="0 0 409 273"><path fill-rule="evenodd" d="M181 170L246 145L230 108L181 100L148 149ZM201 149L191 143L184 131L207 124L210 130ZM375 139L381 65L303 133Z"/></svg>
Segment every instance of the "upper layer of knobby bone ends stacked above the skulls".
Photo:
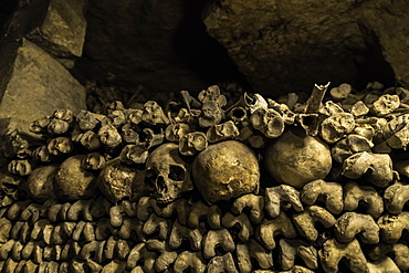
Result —
<svg viewBox="0 0 409 273"><path fill-rule="evenodd" d="M400 101L406 102L403 95L408 92L401 90L386 90L377 99L366 98L371 93L365 94L366 97L355 97L353 105L353 98L340 105L328 101L319 114L300 114L295 113L300 109L291 111L294 102L289 102L290 98L285 103L291 103L291 108L287 104L264 99L258 94L253 97L244 94L235 105L222 111L226 97L218 86L210 86L199 94L200 102L181 92L185 107L177 114L165 114L153 101L147 102L143 109L125 109L120 102L112 103L107 116L86 111L74 116L69 109L55 111L52 116L40 118L31 126L34 133L48 135L46 144L30 150L27 140L10 133L3 148L6 156L15 158L10 162L9 170L25 176L33 168L28 158L34 162L49 162L70 154L76 145L88 151L118 154L125 162L144 164L148 149L165 139L179 143L179 151L185 156L193 156L206 149L208 143L223 139L239 139L261 148L268 138L279 137L285 125L297 124L310 135L319 133L325 141L336 144L334 159L343 161L355 153L371 149L389 153L392 148L406 148L405 132L408 128L398 125L409 119L408 108ZM391 92L397 94L389 94ZM192 119L197 119L198 125L193 125ZM140 127L140 124L144 126Z"/></svg>

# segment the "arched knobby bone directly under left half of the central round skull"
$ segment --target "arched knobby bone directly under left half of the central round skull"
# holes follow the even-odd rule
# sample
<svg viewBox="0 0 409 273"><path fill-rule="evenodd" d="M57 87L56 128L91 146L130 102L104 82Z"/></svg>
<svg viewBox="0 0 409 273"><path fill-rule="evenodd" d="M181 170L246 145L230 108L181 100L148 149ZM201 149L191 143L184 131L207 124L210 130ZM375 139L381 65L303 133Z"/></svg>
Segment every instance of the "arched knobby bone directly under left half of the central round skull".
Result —
<svg viewBox="0 0 409 273"><path fill-rule="evenodd" d="M220 229L221 209L218 206L213 204L209 207L202 201L193 203L187 221L188 227L199 228L199 221L202 217L206 217L210 229Z"/></svg>

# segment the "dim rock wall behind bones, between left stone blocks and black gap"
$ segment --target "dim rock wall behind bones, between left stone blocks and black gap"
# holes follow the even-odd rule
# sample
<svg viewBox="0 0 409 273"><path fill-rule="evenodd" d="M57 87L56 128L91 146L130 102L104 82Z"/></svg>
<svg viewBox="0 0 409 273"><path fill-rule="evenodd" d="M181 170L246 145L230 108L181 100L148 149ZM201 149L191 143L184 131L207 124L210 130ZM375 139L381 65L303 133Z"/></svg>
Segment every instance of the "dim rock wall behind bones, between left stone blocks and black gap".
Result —
<svg viewBox="0 0 409 273"><path fill-rule="evenodd" d="M76 65L80 76L143 84L157 92L202 85L174 50L183 19L181 0L92 0L86 19L85 56Z"/></svg>

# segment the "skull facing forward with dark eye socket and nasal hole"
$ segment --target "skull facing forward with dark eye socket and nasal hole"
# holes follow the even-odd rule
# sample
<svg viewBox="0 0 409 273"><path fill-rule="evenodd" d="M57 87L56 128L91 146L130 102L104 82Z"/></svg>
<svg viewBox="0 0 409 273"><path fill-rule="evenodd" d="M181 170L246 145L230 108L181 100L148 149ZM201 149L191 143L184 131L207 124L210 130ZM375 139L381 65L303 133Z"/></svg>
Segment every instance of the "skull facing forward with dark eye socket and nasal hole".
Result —
<svg viewBox="0 0 409 273"><path fill-rule="evenodd" d="M179 146L175 143L162 144L149 155L146 177L154 182L155 197L161 203L171 202L193 189L190 165L180 158Z"/></svg>

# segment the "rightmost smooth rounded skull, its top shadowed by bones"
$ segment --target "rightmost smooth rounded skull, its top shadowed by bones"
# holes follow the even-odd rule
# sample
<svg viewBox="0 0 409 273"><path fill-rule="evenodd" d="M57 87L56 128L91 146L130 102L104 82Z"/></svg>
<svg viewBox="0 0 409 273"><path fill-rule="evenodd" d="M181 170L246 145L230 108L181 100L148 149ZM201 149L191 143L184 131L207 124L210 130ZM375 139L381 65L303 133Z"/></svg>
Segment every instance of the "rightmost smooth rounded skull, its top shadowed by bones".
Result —
<svg viewBox="0 0 409 273"><path fill-rule="evenodd" d="M268 146L264 166L277 182L301 189L316 179L325 178L332 167L326 144L303 132L290 130Z"/></svg>

